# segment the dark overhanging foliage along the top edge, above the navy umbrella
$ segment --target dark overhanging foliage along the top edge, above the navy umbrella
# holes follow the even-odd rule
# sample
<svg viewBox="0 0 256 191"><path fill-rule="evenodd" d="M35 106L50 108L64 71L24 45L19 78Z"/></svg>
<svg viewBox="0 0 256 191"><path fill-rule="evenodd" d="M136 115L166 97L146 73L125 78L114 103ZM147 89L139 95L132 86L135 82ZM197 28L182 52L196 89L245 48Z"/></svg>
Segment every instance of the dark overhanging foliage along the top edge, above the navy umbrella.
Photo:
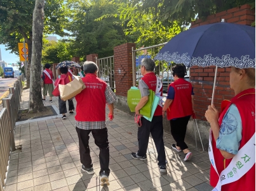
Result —
<svg viewBox="0 0 256 191"><path fill-rule="evenodd" d="M120 1L120 0L116 0ZM189 25L192 20L206 18L208 15L227 9L241 6L247 3L255 3L254 0L121 0L128 4L128 8L137 7L140 18L142 15L152 13L154 20L161 20L165 25L178 22L179 25ZM133 11L126 15L133 15Z"/></svg>

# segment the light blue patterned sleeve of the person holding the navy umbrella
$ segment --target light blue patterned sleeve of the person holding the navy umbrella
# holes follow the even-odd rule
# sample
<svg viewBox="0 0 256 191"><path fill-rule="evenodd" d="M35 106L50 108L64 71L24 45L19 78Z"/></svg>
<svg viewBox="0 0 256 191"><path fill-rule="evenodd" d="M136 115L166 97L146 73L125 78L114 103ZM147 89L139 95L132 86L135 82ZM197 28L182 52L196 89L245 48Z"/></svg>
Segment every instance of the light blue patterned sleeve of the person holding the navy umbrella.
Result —
<svg viewBox="0 0 256 191"><path fill-rule="evenodd" d="M242 120L238 108L231 104L220 125L216 147L231 154L237 154L242 139Z"/></svg>

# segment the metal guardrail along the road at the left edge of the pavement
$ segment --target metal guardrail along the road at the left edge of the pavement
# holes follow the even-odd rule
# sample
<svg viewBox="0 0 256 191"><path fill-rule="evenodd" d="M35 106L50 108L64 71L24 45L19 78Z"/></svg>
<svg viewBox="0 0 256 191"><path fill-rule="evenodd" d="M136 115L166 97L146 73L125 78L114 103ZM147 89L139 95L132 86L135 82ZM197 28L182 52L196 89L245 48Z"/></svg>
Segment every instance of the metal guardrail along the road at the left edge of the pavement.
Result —
<svg viewBox="0 0 256 191"><path fill-rule="evenodd" d="M2 99L3 109L0 111L0 191L4 191L11 152L15 151L15 122L22 100L22 81L24 75L18 77L14 87L10 87L8 97Z"/></svg>

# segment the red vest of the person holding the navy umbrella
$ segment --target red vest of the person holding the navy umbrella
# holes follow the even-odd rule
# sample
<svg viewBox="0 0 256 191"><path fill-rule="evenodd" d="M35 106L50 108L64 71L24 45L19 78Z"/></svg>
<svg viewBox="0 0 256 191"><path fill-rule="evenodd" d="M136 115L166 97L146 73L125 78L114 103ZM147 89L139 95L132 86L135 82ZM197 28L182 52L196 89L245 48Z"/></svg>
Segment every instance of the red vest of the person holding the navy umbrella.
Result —
<svg viewBox="0 0 256 191"><path fill-rule="evenodd" d="M255 89L247 89L239 93L231 99L231 102L227 105L224 111L220 114L219 125L221 125L222 120L229 109L231 104L235 104L238 108L239 114L242 120L242 139L240 142L240 147L248 142L255 133ZM212 135L212 145L213 145L213 156L215 159L215 164L219 174L224 170L224 157L220 153L219 149L216 147L215 139ZM232 159L226 159L226 167L229 165ZM215 172L211 165L210 170L210 184L215 187L219 181L219 176ZM255 164L252 168L243 175L236 182L228 183L222 186L224 191L233 190L255 190Z"/></svg>

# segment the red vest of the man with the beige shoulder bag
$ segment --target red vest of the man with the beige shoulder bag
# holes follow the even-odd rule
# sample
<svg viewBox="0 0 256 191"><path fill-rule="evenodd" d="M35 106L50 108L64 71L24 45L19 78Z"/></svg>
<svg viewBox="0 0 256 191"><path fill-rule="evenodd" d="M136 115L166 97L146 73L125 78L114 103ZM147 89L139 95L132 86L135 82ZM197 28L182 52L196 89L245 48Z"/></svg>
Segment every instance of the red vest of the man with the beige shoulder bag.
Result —
<svg viewBox="0 0 256 191"><path fill-rule="evenodd" d="M105 121L107 83L94 74L82 78L86 88L76 95L76 121Z"/></svg>

